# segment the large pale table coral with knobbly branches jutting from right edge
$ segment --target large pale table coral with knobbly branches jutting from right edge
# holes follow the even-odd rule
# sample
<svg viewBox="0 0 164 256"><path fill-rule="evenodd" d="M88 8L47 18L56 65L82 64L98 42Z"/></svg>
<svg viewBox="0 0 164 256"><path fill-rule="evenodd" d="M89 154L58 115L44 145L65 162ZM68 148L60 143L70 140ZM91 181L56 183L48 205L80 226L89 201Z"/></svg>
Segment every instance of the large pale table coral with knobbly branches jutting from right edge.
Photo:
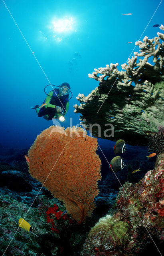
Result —
<svg viewBox="0 0 164 256"><path fill-rule="evenodd" d="M160 29L164 27L161 25ZM88 96L79 94L77 100L81 104L75 104L74 112L82 114L80 120L86 130L91 130L93 124L101 126L100 135L98 126L93 126L93 136L123 138L128 144L143 146L148 145L146 136L150 133L163 134L164 34L157 34L154 39L145 36L143 42L136 42L140 53L134 52L127 64L121 65L121 71L116 63L89 74L99 81L99 87ZM105 124L114 126L114 137L109 131L111 127ZM160 152L164 152L164 145Z"/></svg>

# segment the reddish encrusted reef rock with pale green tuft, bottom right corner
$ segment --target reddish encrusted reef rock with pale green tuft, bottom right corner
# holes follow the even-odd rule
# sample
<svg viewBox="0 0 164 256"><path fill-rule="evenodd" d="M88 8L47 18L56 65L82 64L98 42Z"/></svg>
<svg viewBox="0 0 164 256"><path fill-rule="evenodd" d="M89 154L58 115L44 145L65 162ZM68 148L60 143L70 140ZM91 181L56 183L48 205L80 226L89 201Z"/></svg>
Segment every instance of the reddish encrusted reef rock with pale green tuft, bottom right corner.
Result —
<svg viewBox="0 0 164 256"><path fill-rule="evenodd" d="M91 229L81 255L137 256L146 246L157 255L164 242L164 153L140 182L120 188L113 209Z"/></svg>

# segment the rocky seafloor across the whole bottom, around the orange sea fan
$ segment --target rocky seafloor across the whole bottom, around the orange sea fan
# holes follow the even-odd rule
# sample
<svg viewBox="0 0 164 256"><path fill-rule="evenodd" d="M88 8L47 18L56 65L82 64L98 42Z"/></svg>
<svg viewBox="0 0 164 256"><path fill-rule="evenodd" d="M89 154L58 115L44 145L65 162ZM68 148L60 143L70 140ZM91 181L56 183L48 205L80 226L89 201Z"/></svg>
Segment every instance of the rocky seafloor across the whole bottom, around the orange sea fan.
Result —
<svg viewBox="0 0 164 256"><path fill-rule="evenodd" d="M24 159L24 151L27 152L28 149L0 149L1 255L141 256L148 254L151 256L159 254L154 242L150 239L150 236L142 226L140 220L136 220L137 216L130 216L130 204L126 202L126 195L123 194L120 183L115 175L111 173L109 165L100 150L97 150L97 154L102 161L102 180L99 182L100 193L95 198L96 208L93 210L91 217L87 218L85 222L80 225L73 220L70 214L63 215L65 216L64 218L57 218L57 213L53 212L52 214L54 204L58 207L56 212L59 210L63 212L65 210L63 202L60 202L57 198L53 198L51 193L45 188L42 188L40 191L42 185L30 176L26 160ZM103 148L103 153L108 160L112 159L114 156L112 147ZM154 187L158 188L158 186L160 186L163 175L162 170L164 169L164 156L162 154L162 156L159 155L158 161L156 162L156 157L147 160L147 155L147 147L127 145L127 152L125 152L123 156L126 167L121 172L117 173L117 177L121 184L124 184L126 192L131 191L130 193L132 194L129 194L131 195L131 200L134 200L136 209L140 212L141 219L144 219L144 223L151 233L153 240L158 245L158 249L162 251L164 236L162 235L162 219L160 215L163 216L163 210L160 212L159 209L151 209L148 206L150 198L147 196L147 201L145 198L142 198L142 202L140 202L138 195L141 197L143 192L150 194L151 190L148 192L148 188L152 188L153 193L158 193L158 201L163 202L160 198L160 191L153 189L155 189ZM160 178L154 178L155 170L157 170L154 168L155 162ZM132 175L132 173L130 173L131 169L129 170L128 167L129 164L131 164L133 170L140 168L141 171ZM146 182L150 180L148 186L143 185L144 180L147 178L148 181L146 180ZM156 183L154 183L155 180L157 181ZM142 192L139 192L141 187ZM162 190L162 188L163 187L161 187L160 190ZM153 197L153 193L151 197ZM156 205L155 203L154 205ZM46 214L48 209L50 212L49 217L48 214ZM132 212L132 210L130 211ZM123 212L126 212L126 214ZM106 216L106 214L113 216L113 220L115 221L123 221L126 222L126 224L130 223L131 228L129 226L126 227L126 234L124 235L125 237L127 236L127 239L126 241L122 240L122 242L120 242L120 238L116 239L117 235L115 232L113 236L111 236L111 233L106 231L109 232L108 237L111 236L110 239L113 242L108 241L109 244L106 246L106 249L104 249L103 242L97 243L97 241L95 241L96 237L99 239L99 235L96 233L93 235L91 228L100 218ZM152 218L153 216L154 219ZM19 218L25 218L38 237L23 228L18 229ZM145 220L145 218L147 218L147 220ZM50 219L51 221L48 221ZM113 238L112 240L114 236L115 239ZM103 236L101 239L103 239ZM110 243L112 243L112 245L110 245Z"/></svg>

